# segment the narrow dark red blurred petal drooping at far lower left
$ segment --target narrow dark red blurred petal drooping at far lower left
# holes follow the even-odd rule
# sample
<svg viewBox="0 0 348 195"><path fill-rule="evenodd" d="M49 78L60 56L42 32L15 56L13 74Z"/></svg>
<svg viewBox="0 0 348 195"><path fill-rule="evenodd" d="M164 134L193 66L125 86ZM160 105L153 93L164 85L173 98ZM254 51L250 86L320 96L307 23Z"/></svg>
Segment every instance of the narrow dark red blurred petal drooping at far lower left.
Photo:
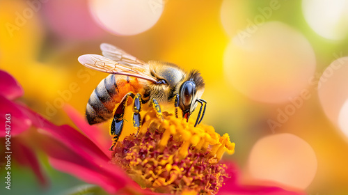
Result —
<svg viewBox="0 0 348 195"><path fill-rule="evenodd" d="M47 179L42 174L42 170L40 169L40 164L38 162L38 158L31 148L22 144L24 140L20 138L13 139L13 157L16 159L16 162L21 164L22 166L29 166L31 170L35 173L35 176L38 177L40 184L43 186L47 185Z"/></svg>

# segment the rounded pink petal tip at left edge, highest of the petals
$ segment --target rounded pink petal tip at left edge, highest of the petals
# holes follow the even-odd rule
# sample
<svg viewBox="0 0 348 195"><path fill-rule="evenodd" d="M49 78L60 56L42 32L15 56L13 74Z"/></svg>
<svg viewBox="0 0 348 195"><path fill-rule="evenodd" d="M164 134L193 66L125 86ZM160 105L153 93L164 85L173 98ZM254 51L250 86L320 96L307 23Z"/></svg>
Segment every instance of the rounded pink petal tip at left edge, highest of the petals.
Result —
<svg viewBox="0 0 348 195"><path fill-rule="evenodd" d="M22 86L7 72L0 70L0 95L9 100L19 98L23 95Z"/></svg>

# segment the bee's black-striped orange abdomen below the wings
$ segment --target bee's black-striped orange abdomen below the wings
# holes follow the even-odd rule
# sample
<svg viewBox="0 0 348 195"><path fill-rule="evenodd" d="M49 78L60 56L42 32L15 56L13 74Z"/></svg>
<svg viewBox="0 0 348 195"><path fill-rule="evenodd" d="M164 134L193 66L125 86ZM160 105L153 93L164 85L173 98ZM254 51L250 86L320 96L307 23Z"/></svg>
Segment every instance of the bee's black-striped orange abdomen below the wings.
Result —
<svg viewBox="0 0 348 195"><path fill-rule="evenodd" d="M113 109L128 92L139 93L141 85L133 77L109 75L98 84L88 100L86 118L90 125L113 117Z"/></svg>

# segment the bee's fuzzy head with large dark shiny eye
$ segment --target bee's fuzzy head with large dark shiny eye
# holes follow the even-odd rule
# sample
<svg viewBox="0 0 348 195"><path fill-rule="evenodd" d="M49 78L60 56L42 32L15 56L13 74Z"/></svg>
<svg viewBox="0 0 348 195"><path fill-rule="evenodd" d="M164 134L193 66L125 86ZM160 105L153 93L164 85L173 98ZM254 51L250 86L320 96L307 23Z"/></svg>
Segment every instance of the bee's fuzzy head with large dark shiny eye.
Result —
<svg viewBox="0 0 348 195"><path fill-rule="evenodd" d="M197 107L197 100L203 95L204 81L197 70L193 70L187 75L180 86L179 107L182 110L182 117L188 119Z"/></svg>

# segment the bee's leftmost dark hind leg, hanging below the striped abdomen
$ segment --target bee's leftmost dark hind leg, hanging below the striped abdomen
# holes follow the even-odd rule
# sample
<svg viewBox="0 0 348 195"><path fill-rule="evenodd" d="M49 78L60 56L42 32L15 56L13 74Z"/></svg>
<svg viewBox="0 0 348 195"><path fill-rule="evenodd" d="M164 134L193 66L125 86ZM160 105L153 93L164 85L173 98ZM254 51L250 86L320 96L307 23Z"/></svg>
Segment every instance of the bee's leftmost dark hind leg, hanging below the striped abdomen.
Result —
<svg viewBox="0 0 348 195"><path fill-rule="evenodd" d="M133 93L127 93L125 97L123 97L122 101L118 105L115 114L113 114L113 120L111 122L110 135L113 136L112 145L109 148L110 151L113 150L113 147L116 145L123 129L123 115L125 114L125 107L127 107L127 101L129 96L134 98Z"/></svg>

